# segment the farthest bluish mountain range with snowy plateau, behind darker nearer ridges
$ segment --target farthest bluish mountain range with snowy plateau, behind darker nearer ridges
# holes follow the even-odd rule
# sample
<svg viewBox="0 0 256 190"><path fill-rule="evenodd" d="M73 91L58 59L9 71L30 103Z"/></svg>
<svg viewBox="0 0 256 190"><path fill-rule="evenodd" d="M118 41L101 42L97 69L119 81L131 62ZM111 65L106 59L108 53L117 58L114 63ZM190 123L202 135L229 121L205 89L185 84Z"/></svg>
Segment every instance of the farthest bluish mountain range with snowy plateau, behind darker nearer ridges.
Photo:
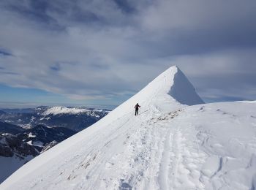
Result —
<svg viewBox="0 0 256 190"><path fill-rule="evenodd" d="M48 127L61 126L80 132L99 121L110 110L99 110L86 107L46 107L34 109L0 110L0 121L30 129L38 124Z"/></svg>

